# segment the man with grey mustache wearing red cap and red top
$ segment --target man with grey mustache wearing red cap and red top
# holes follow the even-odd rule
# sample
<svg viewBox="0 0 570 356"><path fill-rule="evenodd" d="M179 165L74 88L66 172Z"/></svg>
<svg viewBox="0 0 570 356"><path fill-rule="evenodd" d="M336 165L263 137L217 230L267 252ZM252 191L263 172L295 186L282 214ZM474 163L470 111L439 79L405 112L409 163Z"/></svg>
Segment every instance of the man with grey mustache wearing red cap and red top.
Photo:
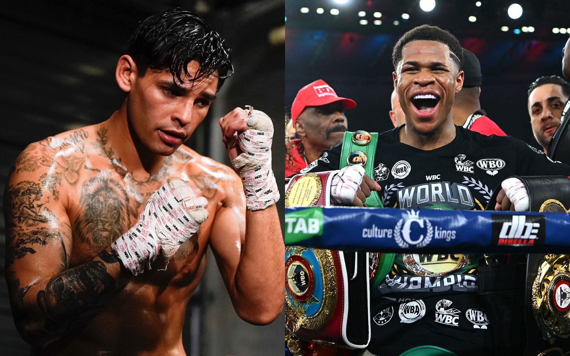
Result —
<svg viewBox="0 0 570 356"><path fill-rule="evenodd" d="M291 107L296 138L287 143L285 177L298 173L316 161L321 151L343 140L347 130L344 109L354 107L354 100L337 96L322 79L299 90Z"/></svg>

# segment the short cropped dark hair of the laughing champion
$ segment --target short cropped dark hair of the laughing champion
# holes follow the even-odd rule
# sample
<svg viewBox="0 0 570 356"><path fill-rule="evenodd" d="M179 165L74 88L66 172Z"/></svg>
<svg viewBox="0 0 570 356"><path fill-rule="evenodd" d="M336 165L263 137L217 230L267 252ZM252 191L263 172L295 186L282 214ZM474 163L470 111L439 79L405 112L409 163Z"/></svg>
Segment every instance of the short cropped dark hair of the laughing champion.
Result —
<svg viewBox="0 0 570 356"><path fill-rule="evenodd" d="M394 45L394 50L392 51L392 64L394 65L394 69L396 69L398 63L402 60L402 47L404 47L406 43L416 40L437 41L445 44L449 47L451 59L453 59L453 62L457 65L457 69L459 70L463 66L463 48L457 38L437 26L422 24L422 26L414 27L412 30L406 32Z"/></svg>

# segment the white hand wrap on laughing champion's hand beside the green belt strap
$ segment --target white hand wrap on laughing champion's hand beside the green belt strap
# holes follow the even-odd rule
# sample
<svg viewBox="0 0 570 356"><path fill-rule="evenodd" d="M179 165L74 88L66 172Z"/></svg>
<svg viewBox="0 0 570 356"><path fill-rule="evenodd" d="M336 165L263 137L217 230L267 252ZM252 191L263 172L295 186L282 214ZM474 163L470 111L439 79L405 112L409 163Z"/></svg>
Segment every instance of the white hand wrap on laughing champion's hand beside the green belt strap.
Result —
<svg viewBox="0 0 570 356"><path fill-rule="evenodd" d="M364 177L363 166L348 166L339 170L331 181L331 203L333 205L352 205L356 191Z"/></svg>

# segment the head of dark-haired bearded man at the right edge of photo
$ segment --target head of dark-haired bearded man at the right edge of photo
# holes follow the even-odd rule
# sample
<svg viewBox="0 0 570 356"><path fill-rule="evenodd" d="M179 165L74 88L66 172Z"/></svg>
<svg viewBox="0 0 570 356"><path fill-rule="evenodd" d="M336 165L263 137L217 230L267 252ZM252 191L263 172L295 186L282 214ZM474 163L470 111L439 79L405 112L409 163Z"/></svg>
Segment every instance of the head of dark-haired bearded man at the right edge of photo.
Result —
<svg viewBox="0 0 570 356"><path fill-rule="evenodd" d="M528 88L532 133L547 154L569 96L570 84L557 75L540 77Z"/></svg>

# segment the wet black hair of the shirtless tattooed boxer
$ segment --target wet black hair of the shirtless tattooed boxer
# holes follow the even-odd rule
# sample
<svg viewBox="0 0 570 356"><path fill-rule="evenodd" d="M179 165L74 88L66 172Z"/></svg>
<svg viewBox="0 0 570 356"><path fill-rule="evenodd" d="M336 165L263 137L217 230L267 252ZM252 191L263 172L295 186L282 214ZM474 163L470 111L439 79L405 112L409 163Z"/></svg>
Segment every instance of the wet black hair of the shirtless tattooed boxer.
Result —
<svg viewBox="0 0 570 356"><path fill-rule="evenodd" d="M135 61L139 76L143 77L149 68L168 70L177 84L184 83L182 73L188 76L188 63L196 60L200 67L192 83L215 75L218 90L234 69L230 49L224 46L218 32L200 16L181 9L142 21L129 40L127 54Z"/></svg>

